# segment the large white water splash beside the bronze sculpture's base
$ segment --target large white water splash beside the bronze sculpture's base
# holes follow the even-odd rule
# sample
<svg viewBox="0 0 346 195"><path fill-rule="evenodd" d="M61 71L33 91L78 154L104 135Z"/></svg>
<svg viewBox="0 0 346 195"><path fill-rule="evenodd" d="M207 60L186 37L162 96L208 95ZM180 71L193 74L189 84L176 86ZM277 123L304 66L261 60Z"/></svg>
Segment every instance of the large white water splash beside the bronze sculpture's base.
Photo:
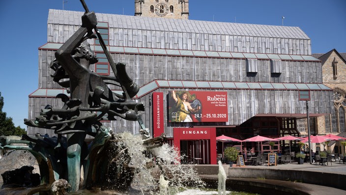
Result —
<svg viewBox="0 0 346 195"><path fill-rule="evenodd" d="M169 181L170 186L205 186L194 166L180 164L177 150L170 145L163 144L147 151L140 136L128 132L117 136L126 145L131 157L130 166L135 168L132 188L141 189L142 192L158 191L160 175Z"/></svg>

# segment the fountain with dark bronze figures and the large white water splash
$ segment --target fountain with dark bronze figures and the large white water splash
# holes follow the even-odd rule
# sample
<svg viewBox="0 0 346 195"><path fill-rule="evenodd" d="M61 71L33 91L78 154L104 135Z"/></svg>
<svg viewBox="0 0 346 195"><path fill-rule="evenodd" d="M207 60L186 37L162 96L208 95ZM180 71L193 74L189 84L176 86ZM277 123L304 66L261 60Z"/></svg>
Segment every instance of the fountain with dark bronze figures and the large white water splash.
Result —
<svg viewBox="0 0 346 195"><path fill-rule="evenodd" d="M58 49L56 59L50 64L54 70L53 80L66 88L70 97L58 94L63 102L61 108L47 105L34 120L25 119L26 125L55 130L57 136L36 133L34 137L3 137L0 142L1 150L25 150L36 158L40 185L5 188L0 194L10 191L49 194L51 185L57 181L69 192L80 189L128 192L132 188L144 193L158 190L159 175L162 185L164 181L176 186L202 185L192 167L175 165L179 163L177 153L163 144L164 134L150 138L141 117L144 105L131 99L139 91L137 84L127 75L124 64L113 62L96 28L95 13L89 12L84 0L81 2L86 10L82 26ZM96 37L115 77L102 76L89 69L97 58L87 39ZM110 86L121 89L122 95L112 92ZM117 120L116 117L138 121L140 133L115 134L100 123ZM87 135L94 137L88 144ZM63 181L68 181L68 185Z"/></svg>

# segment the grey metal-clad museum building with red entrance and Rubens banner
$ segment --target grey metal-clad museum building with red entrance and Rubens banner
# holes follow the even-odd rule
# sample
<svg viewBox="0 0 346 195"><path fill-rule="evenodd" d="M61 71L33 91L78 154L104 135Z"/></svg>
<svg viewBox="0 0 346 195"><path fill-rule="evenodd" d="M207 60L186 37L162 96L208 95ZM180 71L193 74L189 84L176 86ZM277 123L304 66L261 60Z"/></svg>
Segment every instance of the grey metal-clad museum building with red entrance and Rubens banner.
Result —
<svg viewBox="0 0 346 195"><path fill-rule="evenodd" d="M321 61L312 56L310 38L300 28L136 13L96 13L97 26L115 63L126 64L129 76L140 86L134 99L144 103L144 125L152 136L165 133L186 156L183 163L199 159L216 164L222 150L216 136L222 134L238 139L300 135L297 121L307 117L300 94L310 97L310 117L334 113L333 90L322 84ZM47 43L38 48L38 89L29 95L29 119L35 119L47 104L61 108L63 102L56 96L69 95L53 81L50 62L82 25L83 14L49 10ZM99 59L90 69L114 76L99 40L88 42ZM114 132L140 130L138 122L121 118L103 124ZM35 133L55 135L54 130L28 127L29 135ZM258 152L256 144L243 146ZM268 143L260 147L269 152ZM281 148L275 145L274 149Z"/></svg>

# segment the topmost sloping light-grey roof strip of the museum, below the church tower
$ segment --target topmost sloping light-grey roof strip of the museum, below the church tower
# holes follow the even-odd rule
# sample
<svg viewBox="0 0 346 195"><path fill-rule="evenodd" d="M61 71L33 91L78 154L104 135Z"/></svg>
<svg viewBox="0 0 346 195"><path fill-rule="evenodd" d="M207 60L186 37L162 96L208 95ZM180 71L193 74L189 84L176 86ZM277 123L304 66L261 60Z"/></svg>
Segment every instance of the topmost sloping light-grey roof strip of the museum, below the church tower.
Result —
<svg viewBox="0 0 346 195"><path fill-rule="evenodd" d="M84 12L50 9L48 24L82 25ZM310 39L299 27L166 19L96 13L110 28Z"/></svg>

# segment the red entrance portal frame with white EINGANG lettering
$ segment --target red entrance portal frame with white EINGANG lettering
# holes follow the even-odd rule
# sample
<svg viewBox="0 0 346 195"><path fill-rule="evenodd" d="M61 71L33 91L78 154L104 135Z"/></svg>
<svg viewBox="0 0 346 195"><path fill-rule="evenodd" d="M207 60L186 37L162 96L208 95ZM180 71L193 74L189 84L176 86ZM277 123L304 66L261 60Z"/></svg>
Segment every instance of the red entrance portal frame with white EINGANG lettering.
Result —
<svg viewBox="0 0 346 195"><path fill-rule="evenodd" d="M210 151L203 158L210 157L210 164L216 164L216 128L173 128L173 143L180 155L180 140L210 141ZM209 157L208 157L209 156Z"/></svg>

